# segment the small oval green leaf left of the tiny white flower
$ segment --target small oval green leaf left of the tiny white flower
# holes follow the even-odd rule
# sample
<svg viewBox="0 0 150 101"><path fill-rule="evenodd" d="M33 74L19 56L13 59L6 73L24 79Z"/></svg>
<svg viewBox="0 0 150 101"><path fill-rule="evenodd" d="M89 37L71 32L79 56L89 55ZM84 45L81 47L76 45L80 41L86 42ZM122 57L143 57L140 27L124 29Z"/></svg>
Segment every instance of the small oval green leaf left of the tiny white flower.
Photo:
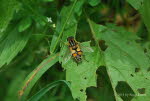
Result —
<svg viewBox="0 0 150 101"><path fill-rule="evenodd" d="M19 32L25 31L27 28L30 27L31 24L32 24L32 19L30 17L22 19L18 28Z"/></svg>

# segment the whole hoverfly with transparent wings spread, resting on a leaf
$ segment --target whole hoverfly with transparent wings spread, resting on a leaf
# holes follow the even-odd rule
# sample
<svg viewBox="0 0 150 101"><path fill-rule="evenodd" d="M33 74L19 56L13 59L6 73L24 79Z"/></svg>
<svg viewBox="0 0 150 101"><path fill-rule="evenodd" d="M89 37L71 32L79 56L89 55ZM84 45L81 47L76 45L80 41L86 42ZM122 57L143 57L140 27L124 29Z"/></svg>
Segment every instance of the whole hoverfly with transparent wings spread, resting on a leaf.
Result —
<svg viewBox="0 0 150 101"><path fill-rule="evenodd" d="M93 49L90 47L90 41L79 43L73 36L70 36L67 38L67 44L61 49L59 61L62 62L62 64L66 64L72 57L78 65L83 60L86 60L83 54L86 52L93 52Z"/></svg>

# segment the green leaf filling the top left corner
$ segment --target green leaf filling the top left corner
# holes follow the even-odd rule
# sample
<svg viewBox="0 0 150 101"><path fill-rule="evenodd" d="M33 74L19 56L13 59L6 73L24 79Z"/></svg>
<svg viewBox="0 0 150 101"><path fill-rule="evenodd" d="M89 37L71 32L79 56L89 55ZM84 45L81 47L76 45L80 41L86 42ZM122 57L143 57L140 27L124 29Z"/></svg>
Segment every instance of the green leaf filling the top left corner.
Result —
<svg viewBox="0 0 150 101"><path fill-rule="evenodd" d="M19 8L16 0L1 0L0 1L0 34L5 31L14 12ZM1 35L0 35L1 36Z"/></svg>

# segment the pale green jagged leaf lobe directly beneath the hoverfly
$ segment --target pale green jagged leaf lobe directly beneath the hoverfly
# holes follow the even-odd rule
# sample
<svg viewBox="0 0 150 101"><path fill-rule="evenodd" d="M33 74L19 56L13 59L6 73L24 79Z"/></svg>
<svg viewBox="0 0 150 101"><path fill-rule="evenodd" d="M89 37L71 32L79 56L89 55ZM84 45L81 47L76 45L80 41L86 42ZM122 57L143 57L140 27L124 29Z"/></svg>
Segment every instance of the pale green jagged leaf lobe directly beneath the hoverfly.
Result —
<svg viewBox="0 0 150 101"><path fill-rule="evenodd" d="M82 46L87 46L87 44L90 46L89 42L81 44ZM71 83L70 88L73 98L79 101L86 101L86 88L96 86L96 70L99 67L101 57L100 51L96 47L94 47L94 52L82 51L84 56L81 63L77 64L73 58L70 58L67 62L62 59L62 66L66 70L66 80ZM60 54L62 57L63 53L65 52Z"/></svg>

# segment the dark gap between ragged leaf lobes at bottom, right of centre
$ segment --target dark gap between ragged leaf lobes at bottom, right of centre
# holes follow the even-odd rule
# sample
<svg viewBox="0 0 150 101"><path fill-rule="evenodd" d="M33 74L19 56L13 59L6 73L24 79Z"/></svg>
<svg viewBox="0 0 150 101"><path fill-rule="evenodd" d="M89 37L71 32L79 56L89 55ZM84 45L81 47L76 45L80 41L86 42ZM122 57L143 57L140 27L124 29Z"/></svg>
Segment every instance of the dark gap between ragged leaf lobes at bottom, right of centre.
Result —
<svg viewBox="0 0 150 101"><path fill-rule="evenodd" d="M97 70L97 87L87 88L88 101L115 101L113 89L106 71L101 66Z"/></svg>

